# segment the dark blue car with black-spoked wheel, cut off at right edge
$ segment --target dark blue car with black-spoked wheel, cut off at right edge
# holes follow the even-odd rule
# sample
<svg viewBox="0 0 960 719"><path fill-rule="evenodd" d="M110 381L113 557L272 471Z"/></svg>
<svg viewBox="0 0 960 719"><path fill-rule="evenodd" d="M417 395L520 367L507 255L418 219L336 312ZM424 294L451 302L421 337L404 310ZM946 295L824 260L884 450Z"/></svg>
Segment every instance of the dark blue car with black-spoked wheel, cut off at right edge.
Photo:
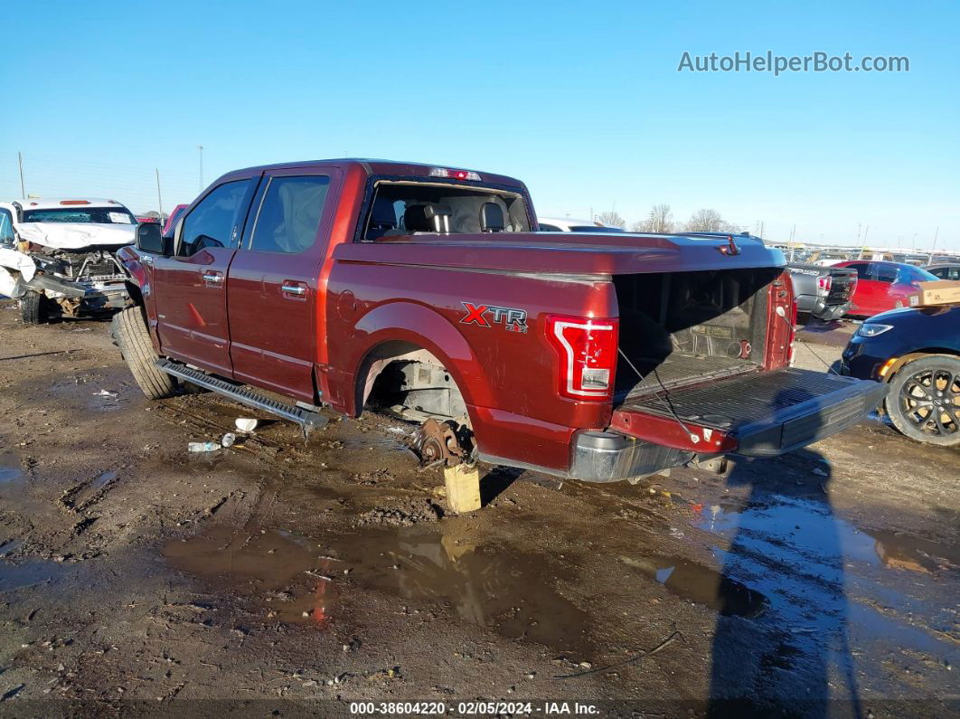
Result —
<svg viewBox="0 0 960 719"><path fill-rule="evenodd" d="M960 306L875 315L853 334L840 371L889 384L887 415L910 439L960 444Z"/></svg>

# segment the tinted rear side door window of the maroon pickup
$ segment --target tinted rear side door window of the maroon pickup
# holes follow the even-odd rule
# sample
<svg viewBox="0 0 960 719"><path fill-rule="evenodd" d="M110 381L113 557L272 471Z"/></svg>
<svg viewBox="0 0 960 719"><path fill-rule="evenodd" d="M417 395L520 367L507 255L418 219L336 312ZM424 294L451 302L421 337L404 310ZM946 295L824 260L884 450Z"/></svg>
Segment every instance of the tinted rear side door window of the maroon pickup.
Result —
<svg viewBox="0 0 960 719"><path fill-rule="evenodd" d="M250 249L297 254L317 240L330 179L322 175L270 179L256 213Z"/></svg>

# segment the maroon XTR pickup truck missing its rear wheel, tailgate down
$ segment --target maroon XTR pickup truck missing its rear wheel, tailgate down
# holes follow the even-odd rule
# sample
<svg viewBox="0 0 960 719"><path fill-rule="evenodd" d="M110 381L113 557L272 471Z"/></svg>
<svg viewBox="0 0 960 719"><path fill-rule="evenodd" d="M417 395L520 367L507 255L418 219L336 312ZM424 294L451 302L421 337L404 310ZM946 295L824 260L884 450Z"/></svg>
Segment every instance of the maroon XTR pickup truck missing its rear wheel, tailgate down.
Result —
<svg viewBox="0 0 960 719"><path fill-rule="evenodd" d="M114 337L150 397L185 380L304 431L324 405L382 409L430 426L447 466L598 482L777 455L879 402L876 383L790 367L790 280L757 238L537 227L500 175L239 170L172 235L138 228L120 253L138 306Z"/></svg>

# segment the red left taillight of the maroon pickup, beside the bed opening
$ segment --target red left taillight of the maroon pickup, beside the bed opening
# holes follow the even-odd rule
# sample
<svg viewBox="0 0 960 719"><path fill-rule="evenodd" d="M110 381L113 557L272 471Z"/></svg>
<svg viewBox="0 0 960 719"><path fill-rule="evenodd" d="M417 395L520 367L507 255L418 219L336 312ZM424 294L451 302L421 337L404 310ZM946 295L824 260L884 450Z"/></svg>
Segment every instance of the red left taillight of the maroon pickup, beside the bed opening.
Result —
<svg viewBox="0 0 960 719"><path fill-rule="evenodd" d="M547 340L560 356L560 394L606 401L613 396L619 321L586 317L547 318Z"/></svg>

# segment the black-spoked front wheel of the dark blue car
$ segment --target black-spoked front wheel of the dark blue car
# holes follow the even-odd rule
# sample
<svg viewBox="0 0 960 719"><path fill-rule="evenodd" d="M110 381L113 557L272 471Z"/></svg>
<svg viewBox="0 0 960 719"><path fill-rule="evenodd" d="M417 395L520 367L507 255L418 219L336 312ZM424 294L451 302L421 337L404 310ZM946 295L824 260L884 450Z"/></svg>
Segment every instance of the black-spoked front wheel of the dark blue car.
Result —
<svg viewBox="0 0 960 719"><path fill-rule="evenodd" d="M885 406L911 440L960 444L960 357L934 354L907 363L890 382Z"/></svg>

